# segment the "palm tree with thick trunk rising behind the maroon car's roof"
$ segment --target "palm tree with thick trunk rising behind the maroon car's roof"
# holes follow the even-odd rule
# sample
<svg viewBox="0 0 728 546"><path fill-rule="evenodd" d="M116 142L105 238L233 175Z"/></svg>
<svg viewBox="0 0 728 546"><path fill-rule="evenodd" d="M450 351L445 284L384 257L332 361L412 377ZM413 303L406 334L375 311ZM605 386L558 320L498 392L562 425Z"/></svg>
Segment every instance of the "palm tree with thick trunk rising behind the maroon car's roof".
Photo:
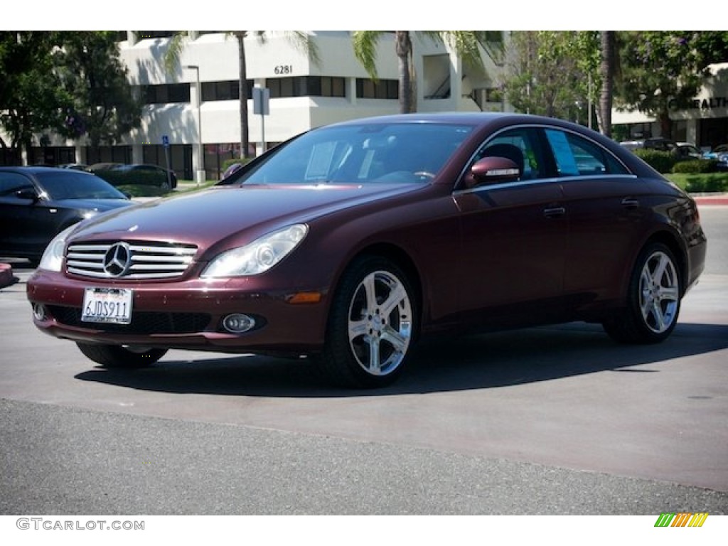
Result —
<svg viewBox="0 0 728 546"><path fill-rule="evenodd" d="M376 73L376 45L385 31L355 31L352 36L354 55L373 80ZM480 47L487 52L490 40L487 31L423 31L424 35L436 41L446 42L453 47L464 63L484 70ZM412 41L410 31L395 31L395 54L399 71L400 113L408 114L416 107L416 74L412 62Z"/></svg>

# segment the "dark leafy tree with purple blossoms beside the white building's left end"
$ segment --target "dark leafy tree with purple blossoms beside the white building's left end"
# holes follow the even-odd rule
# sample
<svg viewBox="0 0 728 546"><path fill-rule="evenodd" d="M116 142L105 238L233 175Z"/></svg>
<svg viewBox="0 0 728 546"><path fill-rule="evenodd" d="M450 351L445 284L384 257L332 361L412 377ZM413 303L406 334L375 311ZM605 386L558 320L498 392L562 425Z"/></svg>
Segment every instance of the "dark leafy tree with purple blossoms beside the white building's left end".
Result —
<svg viewBox="0 0 728 546"><path fill-rule="evenodd" d="M119 59L116 33L63 32L54 54L63 87L73 98L60 133L85 134L91 146L114 144L141 123L141 98L135 98L127 68Z"/></svg>

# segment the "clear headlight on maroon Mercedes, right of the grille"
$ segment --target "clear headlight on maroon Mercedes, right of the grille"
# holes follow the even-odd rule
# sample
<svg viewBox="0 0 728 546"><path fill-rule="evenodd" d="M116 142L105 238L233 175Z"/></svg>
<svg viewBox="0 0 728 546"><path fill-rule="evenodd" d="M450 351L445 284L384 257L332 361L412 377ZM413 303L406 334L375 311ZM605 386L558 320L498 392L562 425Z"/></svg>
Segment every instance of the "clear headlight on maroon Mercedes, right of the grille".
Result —
<svg viewBox="0 0 728 546"><path fill-rule="evenodd" d="M264 235L244 247L226 250L202 272L202 277L245 277L264 273L304 240L309 228L304 223Z"/></svg>

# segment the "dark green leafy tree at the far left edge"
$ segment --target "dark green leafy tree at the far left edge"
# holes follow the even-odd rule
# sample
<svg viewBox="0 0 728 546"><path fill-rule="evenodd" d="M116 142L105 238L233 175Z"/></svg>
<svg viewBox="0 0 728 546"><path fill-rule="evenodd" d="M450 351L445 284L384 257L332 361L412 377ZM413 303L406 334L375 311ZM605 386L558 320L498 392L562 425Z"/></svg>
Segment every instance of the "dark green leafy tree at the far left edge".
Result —
<svg viewBox="0 0 728 546"><path fill-rule="evenodd" d="M60 34L41 31L0 32L0 124L9 143L0 145L13 162L25 148L30 153L33 135L62 127L71 98L53 70L52 50Z"/></svg>

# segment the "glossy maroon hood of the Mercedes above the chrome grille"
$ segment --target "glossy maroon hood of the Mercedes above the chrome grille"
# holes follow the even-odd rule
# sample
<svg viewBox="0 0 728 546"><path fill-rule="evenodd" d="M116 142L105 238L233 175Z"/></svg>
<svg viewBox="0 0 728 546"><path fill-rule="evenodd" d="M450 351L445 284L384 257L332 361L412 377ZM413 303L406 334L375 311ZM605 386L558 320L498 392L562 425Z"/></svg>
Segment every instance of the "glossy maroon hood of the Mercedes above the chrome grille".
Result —
<svg viewBox="0 0 728 546"><path fill-rule="evenodd" d="M311 221L427 186L419 184L218 186L157 199L85 222L72 239L165 240L209 247L229 238L240 243L291 223Z"/></svg>

